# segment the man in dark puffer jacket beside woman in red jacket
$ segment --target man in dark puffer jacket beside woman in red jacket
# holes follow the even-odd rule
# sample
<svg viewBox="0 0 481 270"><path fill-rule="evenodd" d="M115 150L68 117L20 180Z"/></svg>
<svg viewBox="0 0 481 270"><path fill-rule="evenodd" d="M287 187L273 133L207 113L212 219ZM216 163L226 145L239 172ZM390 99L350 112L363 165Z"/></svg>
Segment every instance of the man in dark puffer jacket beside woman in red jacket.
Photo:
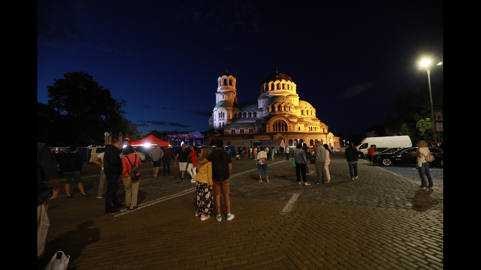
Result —
<svg viewBox="0 0 481 270"><path fill-rule="evenodd" d="M104 172L107 177L107 192L105 194L105 213L117 213L123 204L117 200L117 185L122 173L122 160L120 159L120 149L123 146L122 141L113 144L114 147L105 149L104 154Z"/></svg>

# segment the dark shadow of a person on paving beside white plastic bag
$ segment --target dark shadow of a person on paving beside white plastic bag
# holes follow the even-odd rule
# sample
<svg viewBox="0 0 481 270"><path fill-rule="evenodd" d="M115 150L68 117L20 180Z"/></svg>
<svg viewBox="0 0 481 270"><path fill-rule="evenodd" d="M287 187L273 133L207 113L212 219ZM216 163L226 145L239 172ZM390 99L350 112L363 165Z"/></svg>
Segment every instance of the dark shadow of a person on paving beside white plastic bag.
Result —
<svg viewBox="0 0 481 270"><path fill-rule="evenodd" d="M63 251L65 255L70 255L70 262L68 269L76 269L70 267L72 263L78 258L82 249L91 243L97 242L100 239L99 228L88 228L94 222L85 221L77 226L74 231L66 232L56 239L45 244L45 252L42 258L37 263L37 270L43 270L52 259L54 254L58 251Z"/></svg>

